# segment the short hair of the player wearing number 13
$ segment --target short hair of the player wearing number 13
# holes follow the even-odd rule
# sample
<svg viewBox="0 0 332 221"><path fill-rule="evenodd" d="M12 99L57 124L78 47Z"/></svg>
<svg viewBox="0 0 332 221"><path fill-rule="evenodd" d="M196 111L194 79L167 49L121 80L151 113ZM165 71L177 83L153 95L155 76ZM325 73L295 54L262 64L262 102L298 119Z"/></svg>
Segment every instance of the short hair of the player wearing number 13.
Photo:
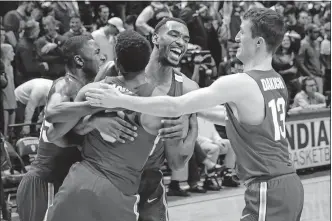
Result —
<svg viewBox="0 0 332 221"><path fill-rule="evenodd" d="M285 34L283 17L268 8L252 8L243 15L243 20L250 20L252 37L262 37L267 44L268 52L274 53Z"/></svg>

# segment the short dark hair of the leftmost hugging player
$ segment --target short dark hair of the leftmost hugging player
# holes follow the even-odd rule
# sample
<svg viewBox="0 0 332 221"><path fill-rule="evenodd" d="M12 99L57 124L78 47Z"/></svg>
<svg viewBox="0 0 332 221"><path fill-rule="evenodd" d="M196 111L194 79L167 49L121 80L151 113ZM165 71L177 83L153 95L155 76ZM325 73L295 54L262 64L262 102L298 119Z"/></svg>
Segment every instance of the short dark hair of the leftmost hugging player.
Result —
<svg viewBox="0 0 332 221"><path fill-rule="evenodd" d="M79 35L69 38L62 46L62 54L68 66L73 66L74 56L93 38L90 35Z"/></svg>

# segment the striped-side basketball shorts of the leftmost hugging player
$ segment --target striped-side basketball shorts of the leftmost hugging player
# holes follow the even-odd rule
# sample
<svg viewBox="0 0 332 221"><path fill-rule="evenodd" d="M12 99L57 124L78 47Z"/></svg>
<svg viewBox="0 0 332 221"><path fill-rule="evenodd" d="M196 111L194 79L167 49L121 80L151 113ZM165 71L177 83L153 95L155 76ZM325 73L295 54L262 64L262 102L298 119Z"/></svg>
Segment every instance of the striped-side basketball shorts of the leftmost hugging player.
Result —
<svg viewBox="0 0 332 221"><path fill-rule="evenodd" d="M17 211L21 221L43 221L48 200L54 196L53 184L27 173L17 190Z"/></svg>

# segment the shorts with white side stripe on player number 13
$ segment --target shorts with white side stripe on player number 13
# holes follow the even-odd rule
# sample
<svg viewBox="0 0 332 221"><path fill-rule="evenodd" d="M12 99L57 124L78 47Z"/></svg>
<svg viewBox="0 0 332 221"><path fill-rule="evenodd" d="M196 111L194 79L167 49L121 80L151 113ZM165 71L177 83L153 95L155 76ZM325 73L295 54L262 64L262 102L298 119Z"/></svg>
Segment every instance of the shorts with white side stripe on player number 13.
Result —
<svg viewBox="0 0 332 221"><path fill-rule="evenodd" d="M245 191L241 221L300 221L304 191L296 173L252 181Z"/></svg>

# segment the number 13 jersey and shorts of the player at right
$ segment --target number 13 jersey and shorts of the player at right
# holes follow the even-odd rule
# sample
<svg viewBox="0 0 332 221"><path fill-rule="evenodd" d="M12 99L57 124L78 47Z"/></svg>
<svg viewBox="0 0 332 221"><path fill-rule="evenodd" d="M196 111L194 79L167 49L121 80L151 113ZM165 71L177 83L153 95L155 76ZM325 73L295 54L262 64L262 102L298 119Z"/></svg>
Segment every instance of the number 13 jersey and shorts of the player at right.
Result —
<svg viewBox="0 0 332 221"><path fill-rule="evenodd" d="M287 88L274 70L249 71L265 102L260 125L240 123L225 104L226 131L236 154L237 174L245 181L245 208L241 221L299 221L303 185L288 152L285 116Z"/></svg>

